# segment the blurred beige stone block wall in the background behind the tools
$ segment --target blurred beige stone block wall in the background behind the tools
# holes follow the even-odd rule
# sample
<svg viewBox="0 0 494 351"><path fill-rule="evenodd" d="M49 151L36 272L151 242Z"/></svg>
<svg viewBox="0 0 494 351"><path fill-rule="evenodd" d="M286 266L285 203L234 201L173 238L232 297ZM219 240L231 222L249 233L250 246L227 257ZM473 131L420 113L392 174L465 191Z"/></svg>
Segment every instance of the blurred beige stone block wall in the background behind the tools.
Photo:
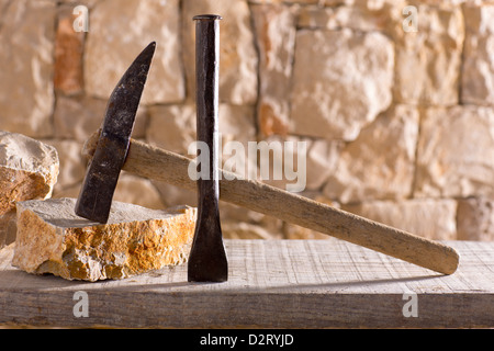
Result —
<svg viewBox="0 0 494 351"><path fill-rule="evenodd" d="M88 32L74 31L79 4ZM134 137L187 155L195 139L192 16L201 13L223 15L224 144L305 140L303 195L434 239L494 239L486 1L0 0L0 129L57 148L55 197L78 195L82 143L151 41ZM115 200L195 204L192 193L127 173ZM227 237L324 238L227 204L222 222Z"/></svg>

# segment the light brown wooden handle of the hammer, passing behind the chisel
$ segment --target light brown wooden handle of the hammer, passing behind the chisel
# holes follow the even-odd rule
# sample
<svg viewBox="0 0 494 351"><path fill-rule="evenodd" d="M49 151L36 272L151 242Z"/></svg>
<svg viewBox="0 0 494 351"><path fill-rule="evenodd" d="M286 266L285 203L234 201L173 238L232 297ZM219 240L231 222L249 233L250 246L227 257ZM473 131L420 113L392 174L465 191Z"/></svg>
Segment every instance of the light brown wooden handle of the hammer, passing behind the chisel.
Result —
<svg viewBox="0 0 494 351"><path fill-rule="evenodd" d="M92 144L91 139L88 140L85 148L90 155L94 148L94 140ZM132 139L123 169L197 191L195 181L188 174L190 161L187 157ZM441 242L385 226L258 181L236 179L225 170L220 171L223 173L220 180L220 199L223 201L444 274L452 274L458 268L458 252Z"/></svg>

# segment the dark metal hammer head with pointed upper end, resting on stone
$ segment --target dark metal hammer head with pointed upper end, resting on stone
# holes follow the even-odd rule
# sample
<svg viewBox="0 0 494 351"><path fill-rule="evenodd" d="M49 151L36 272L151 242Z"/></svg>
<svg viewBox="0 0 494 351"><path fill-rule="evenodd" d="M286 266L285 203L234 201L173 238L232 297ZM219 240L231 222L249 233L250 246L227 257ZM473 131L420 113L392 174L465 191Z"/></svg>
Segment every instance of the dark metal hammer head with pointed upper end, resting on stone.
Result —
<svg viewBox="0 0 494 351"><path fill-rule="evenodd" d="M137 56L110 97L98 146L76 203L78 216L108 222L155 47L153 42Z"/></svg>

